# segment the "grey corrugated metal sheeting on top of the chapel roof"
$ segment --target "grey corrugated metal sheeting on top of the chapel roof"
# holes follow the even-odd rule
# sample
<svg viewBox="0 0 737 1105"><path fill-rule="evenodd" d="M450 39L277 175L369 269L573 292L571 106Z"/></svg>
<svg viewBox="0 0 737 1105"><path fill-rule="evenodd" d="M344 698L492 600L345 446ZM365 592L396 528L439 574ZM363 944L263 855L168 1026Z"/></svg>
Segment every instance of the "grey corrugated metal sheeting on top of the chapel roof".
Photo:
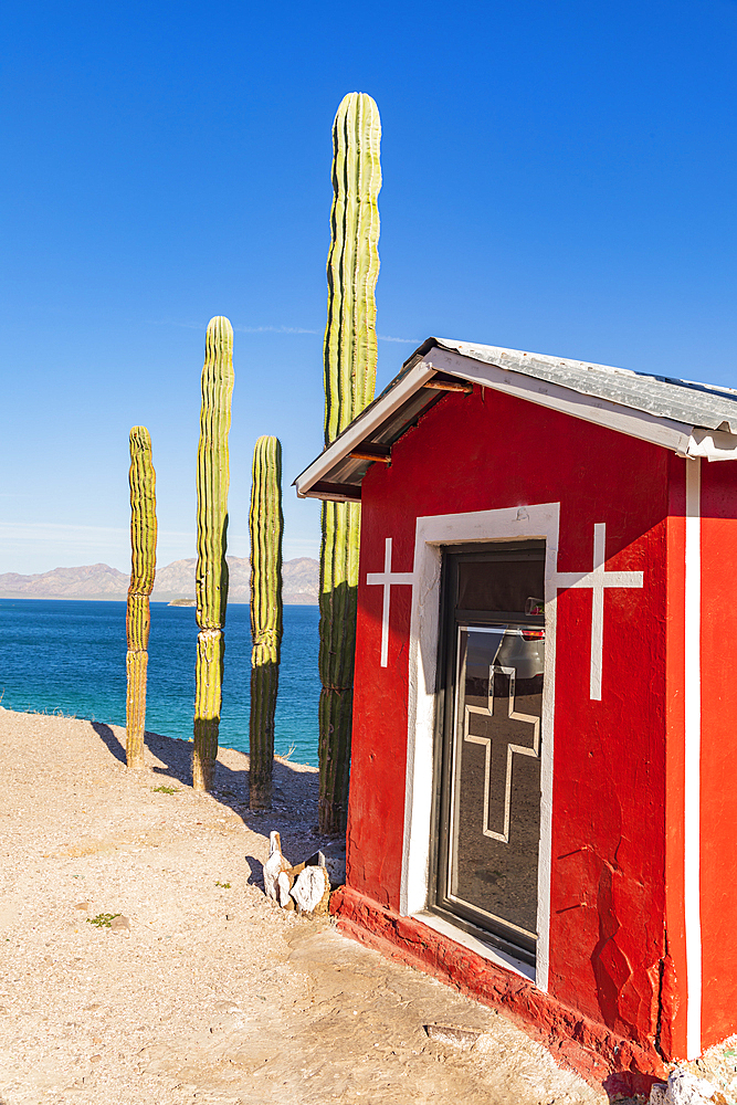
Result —
<svg viewBox="0 0 737 1105"><path fill-rule="evenodd" d="M737 433L737 392L708 383L692 383L649 372L633 372L628 368L591 365L585 360L567 360L518 349L475 345L449 338L429 338L412 355L415 361L439 347L463 357L471 357L486 365L522 372L537 380L546 380L561 388L570 388L582 396L606 399L631 410L645 411L656 418L672 419L705 430L726 430ZM392 381L393 382L393 381ZM390 385L391 387L391 385Z"/></svg>

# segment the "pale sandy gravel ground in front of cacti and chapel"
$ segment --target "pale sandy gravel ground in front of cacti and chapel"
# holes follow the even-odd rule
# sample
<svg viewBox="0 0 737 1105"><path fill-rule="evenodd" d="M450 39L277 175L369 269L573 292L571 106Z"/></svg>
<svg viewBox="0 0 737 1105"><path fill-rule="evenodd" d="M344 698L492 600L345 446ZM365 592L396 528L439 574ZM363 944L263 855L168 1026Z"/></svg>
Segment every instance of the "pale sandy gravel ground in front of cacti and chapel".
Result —
<svg viewBox="0 0 737 1105"><path fill-rule="evenodd" d="M1 1105L606 1101L492 1010L265 898L270 829L293 862L323 843L313 768L277 761L253 814L246 756L221 750L200 796L190 745L151 734L129 774L124 737L0 709Z"/></svg>

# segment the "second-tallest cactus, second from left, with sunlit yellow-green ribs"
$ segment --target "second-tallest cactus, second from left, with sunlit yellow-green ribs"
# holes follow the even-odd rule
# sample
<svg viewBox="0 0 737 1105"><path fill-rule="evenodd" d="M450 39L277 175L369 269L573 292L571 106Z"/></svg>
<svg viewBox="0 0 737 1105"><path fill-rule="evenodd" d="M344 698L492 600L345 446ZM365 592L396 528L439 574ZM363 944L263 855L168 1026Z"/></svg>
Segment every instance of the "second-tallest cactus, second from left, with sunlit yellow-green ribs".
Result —
<svg viewBox="0 0 737 1105"><path fill-rule="evenodd" d="M200 444L197 451L197 669L194 790L210 790L218 756L228 606L228 431L233 394L233 328L211 318L204 339Z"/></svg>

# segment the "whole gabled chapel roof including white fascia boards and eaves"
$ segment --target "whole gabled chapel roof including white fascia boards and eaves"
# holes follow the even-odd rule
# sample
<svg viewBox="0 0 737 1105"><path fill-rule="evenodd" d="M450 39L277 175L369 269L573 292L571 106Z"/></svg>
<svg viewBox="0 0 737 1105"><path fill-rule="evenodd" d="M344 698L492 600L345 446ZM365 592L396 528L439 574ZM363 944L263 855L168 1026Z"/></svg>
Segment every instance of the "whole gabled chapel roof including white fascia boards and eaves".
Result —
<svg viewBox="0 0 737 1105"><path fill-rule="evenodd" d="M434 356L433 349L439 350ZM689 455L708 454L708 449L702 451L698 439L710 432L715 440L723 439L716 445L712 442L710 459L737 459L737 441L727 436L737 434L737 391L731 388L519 349L428 338L381 394L297 476L297 493L317 498L360 498L361 481L375 462L354 456L351 451L360 451L361 445L391 446L442 398L442 391L433 390L439 381L464 378L510 390L533 402L600 421L678 452L687 446ZM538 382L525 383L520 390L514 385L515 380L522 385L520 378ZM609 411L609 415L598 408ZM717 457L719 450L722 455Z"/></svg>

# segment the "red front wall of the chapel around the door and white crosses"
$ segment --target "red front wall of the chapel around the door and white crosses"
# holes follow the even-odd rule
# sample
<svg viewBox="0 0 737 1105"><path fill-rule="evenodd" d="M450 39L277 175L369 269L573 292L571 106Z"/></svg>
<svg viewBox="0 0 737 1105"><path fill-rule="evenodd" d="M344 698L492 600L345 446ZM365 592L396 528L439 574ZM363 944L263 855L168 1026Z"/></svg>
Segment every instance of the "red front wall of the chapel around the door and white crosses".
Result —
<svg viewBox="0 0 737 1105"><path fill-rule="evenodd" d="M665 959L665 641L670 456L522 400L449 394L364 481L348 885L397 911L402 856L411 589L391 591L389 666L379 666L382 589L367 571L410 571L415 518L559 502L558 569L607 569L644 588L604 600L601 702L589 698L591 592L558 599L550 981L554 998L653 1046Z"/></svg>

